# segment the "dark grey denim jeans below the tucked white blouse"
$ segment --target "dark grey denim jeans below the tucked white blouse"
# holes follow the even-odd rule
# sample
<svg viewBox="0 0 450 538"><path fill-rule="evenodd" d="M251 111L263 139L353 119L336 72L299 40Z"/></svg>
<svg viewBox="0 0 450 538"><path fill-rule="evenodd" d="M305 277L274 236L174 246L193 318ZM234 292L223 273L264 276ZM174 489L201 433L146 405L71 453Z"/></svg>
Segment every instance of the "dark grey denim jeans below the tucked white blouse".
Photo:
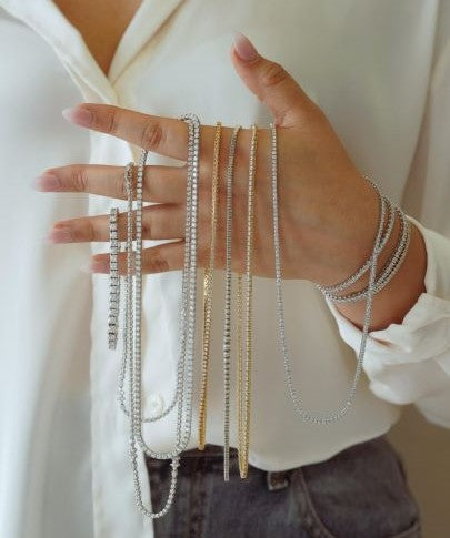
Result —
<svg viewBox="0 0 450 538"><path fill-rule="evenodd" d="M147 459L152 504L170 481L168 461ZM157 538L420 538L417 503L402 461L384 436L330 459L287 471L252 466L239 478L231 450L223 481L222 448L187 450L174 504L154 520Z"/></svg>

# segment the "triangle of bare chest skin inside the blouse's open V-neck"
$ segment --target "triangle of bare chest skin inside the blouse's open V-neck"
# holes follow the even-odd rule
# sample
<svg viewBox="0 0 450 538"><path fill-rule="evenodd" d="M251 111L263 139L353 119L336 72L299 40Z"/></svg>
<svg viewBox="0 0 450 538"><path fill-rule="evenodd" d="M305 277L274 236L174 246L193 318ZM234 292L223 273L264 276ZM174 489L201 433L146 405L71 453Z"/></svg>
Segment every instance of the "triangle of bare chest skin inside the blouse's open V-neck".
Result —
<svg viewBox="0 0 450 538"><path fill-rule="evenodd" d="M53 1L80 31L92 57L108 75L117 47L141 0Z"/></svg>

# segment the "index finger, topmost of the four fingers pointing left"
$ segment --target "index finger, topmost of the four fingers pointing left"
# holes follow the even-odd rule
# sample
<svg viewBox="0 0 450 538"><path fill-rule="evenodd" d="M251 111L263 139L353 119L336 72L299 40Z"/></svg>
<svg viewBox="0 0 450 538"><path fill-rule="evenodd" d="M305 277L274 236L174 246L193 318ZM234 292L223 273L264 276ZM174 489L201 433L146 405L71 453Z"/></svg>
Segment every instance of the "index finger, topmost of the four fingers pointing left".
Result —
<svg viewBox="0 0 450 538"><path fill-rule="evenodd" d="M181 120L96 103L66 109L62 115L77 125L112 134L161 155L187 159L188 126Z"/></svg>

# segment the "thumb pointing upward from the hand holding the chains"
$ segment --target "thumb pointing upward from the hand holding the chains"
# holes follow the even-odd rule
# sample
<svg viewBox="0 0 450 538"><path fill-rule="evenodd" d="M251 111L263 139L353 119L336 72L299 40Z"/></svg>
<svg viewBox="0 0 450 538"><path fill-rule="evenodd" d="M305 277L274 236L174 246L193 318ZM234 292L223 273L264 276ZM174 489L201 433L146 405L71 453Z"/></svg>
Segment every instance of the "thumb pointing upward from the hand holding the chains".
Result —
<svg viewBox="0 0 450 538"><path fill-rule="evenodd" d="M316 108L278 63L262 58L246 35L236 32L231 60L239 77L272 112L277 124L292 126Z"/></svg>

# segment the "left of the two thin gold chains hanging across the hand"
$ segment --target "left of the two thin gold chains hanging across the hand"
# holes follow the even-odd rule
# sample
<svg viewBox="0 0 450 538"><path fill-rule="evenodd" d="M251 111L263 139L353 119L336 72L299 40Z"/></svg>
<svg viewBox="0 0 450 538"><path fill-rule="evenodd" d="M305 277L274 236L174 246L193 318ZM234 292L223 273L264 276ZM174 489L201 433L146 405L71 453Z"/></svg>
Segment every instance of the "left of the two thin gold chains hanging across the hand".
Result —
<svg viewBox="0 0 450 538"><path fill-rule="evenodd" d="M214 150L212 163L212 186L211 186L211 237L209 246L209 264L203 275L203 353L201 363L201 385L199 404L199 450L204 449L207 436L207 399L208 399L208 373L210 358L211 324L212 324L212 288L216 258L216 235L218 221L218 194L219 194L219 159L220 139L222 124L216 124Z"/></svg>

